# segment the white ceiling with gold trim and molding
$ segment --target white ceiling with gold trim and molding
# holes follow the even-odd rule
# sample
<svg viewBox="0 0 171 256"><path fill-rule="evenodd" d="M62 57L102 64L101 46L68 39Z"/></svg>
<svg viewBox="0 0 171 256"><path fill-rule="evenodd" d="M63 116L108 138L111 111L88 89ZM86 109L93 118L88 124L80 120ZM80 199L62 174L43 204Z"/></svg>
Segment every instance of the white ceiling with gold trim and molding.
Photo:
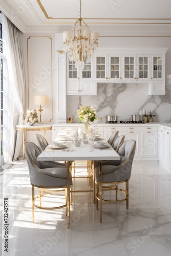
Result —
<svg viewBox="0 0 171 256"><path fill-rule="evenodd" d="M0 10L24 33L62 32L79 18L79 0L1 0ZM81 16L105 35L171 36L170 0L81 0Z"/></svg>

